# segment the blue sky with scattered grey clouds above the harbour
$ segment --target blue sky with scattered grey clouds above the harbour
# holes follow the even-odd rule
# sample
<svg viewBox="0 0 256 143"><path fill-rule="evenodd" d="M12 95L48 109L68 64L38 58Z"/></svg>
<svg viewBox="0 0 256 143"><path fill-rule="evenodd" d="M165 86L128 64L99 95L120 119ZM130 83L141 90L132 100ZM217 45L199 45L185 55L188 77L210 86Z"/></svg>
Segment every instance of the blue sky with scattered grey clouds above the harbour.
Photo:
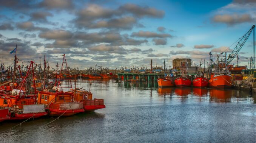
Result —
<svg viewBox="0 0 256 143"><path fill-rule="evenodd" d="M230 53L256 23L256 0L2 0L0 60L50 66L172 67L176 58L194 64L209 52ZM253 34L239 52L239 65L253 56ZM220 57L221 58L221 57ZM233 60L236 64L236 59Z"/></svg>

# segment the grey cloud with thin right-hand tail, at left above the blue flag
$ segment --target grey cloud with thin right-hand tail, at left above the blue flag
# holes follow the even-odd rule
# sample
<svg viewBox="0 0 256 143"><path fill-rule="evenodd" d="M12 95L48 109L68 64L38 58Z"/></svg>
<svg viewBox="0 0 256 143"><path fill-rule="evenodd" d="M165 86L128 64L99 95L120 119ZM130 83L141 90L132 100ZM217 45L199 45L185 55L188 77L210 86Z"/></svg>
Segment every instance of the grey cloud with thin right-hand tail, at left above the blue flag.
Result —
<svg viewBox="0 0 256 143"><path fill-rule="evenodd" d="M26 21L23 23L17 23L17 27L19 29L25 30L25 31L47 31L48 28L43 27L35 27L34 24L30 21Z"/></svg>

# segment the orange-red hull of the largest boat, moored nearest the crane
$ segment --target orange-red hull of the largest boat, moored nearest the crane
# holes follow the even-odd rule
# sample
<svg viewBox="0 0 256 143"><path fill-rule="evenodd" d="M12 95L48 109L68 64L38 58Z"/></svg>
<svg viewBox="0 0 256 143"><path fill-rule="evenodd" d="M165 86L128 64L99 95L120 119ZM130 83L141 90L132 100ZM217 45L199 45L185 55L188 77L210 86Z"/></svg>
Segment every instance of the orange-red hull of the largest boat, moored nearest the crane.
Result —
<svg viewBox="0 0 256 143"><path fill-rule="evenodd" d="M212 88L231 88L232 87L231 75L215 75L209 80L209 86Z"/></svg>

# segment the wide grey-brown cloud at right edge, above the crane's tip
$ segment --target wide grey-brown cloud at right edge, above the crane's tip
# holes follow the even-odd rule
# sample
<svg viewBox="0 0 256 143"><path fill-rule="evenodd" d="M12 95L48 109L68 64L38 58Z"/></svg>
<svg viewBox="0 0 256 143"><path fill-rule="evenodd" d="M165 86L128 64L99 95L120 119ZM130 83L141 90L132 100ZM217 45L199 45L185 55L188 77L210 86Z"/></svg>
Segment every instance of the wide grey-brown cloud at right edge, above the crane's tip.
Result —
<svg viewBox="0 0 256 143"><path fill-rule="evenodd" d="M229 26L232 26L234 24L239 24L239 23L246 23L246 22L253 22L253 18L249 14L224 14L224 15L215 15L213 17L213 22L214 23L225 23Z"/></svg>

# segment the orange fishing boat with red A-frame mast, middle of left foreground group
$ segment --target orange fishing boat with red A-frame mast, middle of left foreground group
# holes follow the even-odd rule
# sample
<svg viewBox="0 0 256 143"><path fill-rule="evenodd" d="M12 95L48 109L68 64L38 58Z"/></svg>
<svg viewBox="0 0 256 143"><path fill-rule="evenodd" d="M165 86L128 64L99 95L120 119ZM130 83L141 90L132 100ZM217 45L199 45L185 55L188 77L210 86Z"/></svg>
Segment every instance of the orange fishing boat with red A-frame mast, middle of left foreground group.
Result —
<svg viewBox="0 0 256 143"><path fill-rule="evenodd" d="M60 69L59 73L62 74L62 72L67 72L69 75L69 71L67 68L68 65L67 63L65 64L65 71L63 70L63 63L66 63L65 54L63 55L62 68ZM38 92L37 103L39 105L46 105L45 111L48 113L49 116L71 116L77 113L84 112L83 102L74 101L73 92L63 91L63 88L72 89L70 78L68 80L69 86L61 87L61 84L57 82L56 79L55 86L52 87L52 89L48 91L44 90ZM60 77L58 81L60 81Z"/></svg>

